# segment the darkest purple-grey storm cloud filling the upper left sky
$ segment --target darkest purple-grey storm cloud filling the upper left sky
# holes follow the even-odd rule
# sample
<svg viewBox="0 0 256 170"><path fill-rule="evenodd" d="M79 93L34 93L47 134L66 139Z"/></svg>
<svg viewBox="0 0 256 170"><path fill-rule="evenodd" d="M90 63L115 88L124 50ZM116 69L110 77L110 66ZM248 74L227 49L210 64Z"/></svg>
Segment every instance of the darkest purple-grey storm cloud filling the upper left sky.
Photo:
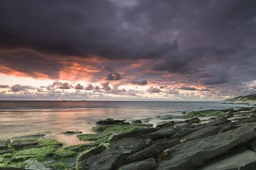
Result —
<svg viewBox="0 0 256 170"><path fill-rule="evenodd" d="M0 45L107 59L157 57L173 50L130 30L110 1L1 1Z"/></svg>

